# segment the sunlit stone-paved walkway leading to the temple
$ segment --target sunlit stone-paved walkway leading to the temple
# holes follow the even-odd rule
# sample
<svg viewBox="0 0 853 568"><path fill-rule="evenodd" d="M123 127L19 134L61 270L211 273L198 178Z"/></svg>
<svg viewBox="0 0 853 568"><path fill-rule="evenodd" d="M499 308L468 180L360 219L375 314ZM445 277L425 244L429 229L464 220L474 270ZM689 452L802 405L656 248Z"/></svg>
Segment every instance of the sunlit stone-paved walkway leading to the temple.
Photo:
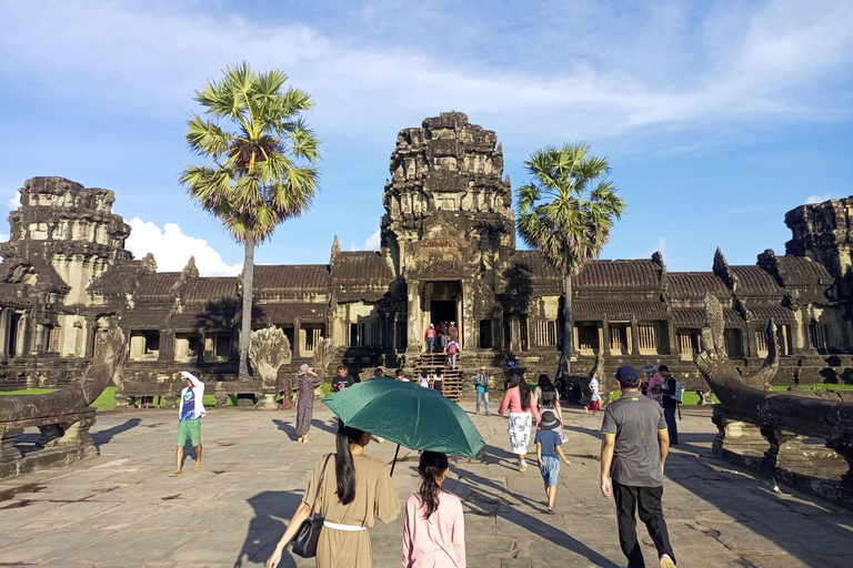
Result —
<svg viewBox="0 0 853 568"><path fill-rule="evenodd" d="M469 410L473 405L463 404ZM333 448L331 413L317 405L310 445L291 442L294 410L211 410L204 464L192 450L173 466L177 413L104 413L93 428L101 455L0 483L0 566L260 566L295 509L309 471ZM521 474L508 452L506 419L472 416L485 462L461 459L446 488L465 504L469 566L615 567L624 562L613 503L599 491L600 416L566 410L558 515L544 511L539 470ZM703 408L686 409L682 446L666 463L664 510L680 568L847 567L853 513L797 495L774 495L765 479L711 456L715 428ZM391 462L395 446L368 453ZM418 485L417 454L401 452L401 501ZM785 490L791 494L792 491ZM654 548L640 530L649 566ZM402 517L371 531L374 565L400 566ZM282 566L313 566L291 558Z"/></svg>

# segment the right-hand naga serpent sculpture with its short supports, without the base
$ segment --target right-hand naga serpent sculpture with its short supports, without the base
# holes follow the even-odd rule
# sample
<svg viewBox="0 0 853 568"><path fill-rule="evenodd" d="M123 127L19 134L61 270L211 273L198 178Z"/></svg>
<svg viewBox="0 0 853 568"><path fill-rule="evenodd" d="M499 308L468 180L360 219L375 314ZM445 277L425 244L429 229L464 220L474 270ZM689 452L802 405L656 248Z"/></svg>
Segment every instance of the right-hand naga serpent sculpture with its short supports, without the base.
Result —
<svg viewBox="0 0 853 568"><path fill-rule="evenodd" d="M770 382L779 367L776 326L772 320L764 329L767 344L764 365L754 374L741 376L725 352L722 307L711 295L705 295L705 316L708 327L702 331L703 351L696 356L696 366L720 399L714 407L714 423L720 428L714 452L723 454L726 426L732 423L760 428L770 443L764 468L775 469L780 445L787 440L802 436L823 438L827 447L846 460L847 471L841 479L853 491L853 403L770 390Z"/></svg>

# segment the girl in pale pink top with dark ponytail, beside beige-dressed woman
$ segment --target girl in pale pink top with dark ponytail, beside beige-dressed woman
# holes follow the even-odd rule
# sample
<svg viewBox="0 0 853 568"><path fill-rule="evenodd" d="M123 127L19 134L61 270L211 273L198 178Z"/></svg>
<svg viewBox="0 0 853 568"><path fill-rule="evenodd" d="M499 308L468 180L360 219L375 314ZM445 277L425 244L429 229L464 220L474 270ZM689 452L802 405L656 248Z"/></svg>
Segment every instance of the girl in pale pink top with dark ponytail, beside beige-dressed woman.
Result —
<svg viewBox="0 0 853 568"><path fill-rule="evenodd" d="M405 568L464 568L465 521L462 501L443 491L448 455L421 454L421 490L405 501L403 566Z"/></svg>

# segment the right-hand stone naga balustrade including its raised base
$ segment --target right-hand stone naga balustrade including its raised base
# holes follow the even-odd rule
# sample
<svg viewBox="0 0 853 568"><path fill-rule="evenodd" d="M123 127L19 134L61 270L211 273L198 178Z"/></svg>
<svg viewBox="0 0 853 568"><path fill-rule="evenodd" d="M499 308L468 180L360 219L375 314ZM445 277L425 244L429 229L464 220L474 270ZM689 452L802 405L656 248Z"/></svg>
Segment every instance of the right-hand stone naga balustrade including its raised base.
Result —
<svg viewBox="0 0 853 568"><path fill-rule="evenodd" d="M779 358L775 325L765 329L767 357L741 376L725 354L720 303L705 297L708 328L696 365L720 399L713 422L714 454L774 479L853 508L853 403L772 392ZM806 444L820 438L821 444Z"/></svg>

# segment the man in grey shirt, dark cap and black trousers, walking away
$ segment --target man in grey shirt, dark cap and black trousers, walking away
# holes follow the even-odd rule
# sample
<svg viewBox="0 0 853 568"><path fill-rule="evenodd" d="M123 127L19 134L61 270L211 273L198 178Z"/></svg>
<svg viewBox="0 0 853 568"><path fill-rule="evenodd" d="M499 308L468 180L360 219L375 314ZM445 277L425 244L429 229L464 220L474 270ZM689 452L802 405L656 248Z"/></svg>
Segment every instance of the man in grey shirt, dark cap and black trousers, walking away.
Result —
<svg viewBox="0 0 853 568"><path fill-rule="evenodd" d="M601 425L601 493L615 498L619 544L629 568L645 568L636 540L638 509L661 568L675 568L661 507L663 464L670 450L663 408L640 393L640 372L631 365L619 367L616 381L622 396L608 405Z"/></svg>

